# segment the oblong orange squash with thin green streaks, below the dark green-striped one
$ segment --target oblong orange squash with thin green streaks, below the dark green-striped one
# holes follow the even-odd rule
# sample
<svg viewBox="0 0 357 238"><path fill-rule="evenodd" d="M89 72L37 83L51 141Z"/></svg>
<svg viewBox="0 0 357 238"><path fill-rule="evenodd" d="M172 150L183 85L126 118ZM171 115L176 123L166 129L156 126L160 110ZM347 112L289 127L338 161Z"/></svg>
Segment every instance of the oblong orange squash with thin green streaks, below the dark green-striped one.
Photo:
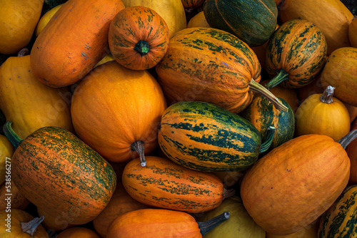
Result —
<svg viewBox="0 0 357 238"><path fill-rule="evenodd" d="M146 156L146 166L139 158L128 162L122 182L135 200L153 207L182 212L206 212L221 205L231 190L211 173L190 170L162 157Z"/></svg>

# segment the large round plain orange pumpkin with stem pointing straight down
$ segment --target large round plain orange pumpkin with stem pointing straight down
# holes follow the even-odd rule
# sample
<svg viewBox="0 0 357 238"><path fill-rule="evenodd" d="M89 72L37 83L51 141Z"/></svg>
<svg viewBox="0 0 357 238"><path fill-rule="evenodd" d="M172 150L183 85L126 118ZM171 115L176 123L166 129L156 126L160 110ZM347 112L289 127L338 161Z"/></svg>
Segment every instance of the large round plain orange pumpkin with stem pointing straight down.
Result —
<svg viewBox="0 0 357 238"><path fill-rule="evenodd" d="M106 160L128 162L140 155L145 165L144 154L158 145L157 127L165 108L154 76L110 61L76 87L71 116L79 138Z"/></svg>

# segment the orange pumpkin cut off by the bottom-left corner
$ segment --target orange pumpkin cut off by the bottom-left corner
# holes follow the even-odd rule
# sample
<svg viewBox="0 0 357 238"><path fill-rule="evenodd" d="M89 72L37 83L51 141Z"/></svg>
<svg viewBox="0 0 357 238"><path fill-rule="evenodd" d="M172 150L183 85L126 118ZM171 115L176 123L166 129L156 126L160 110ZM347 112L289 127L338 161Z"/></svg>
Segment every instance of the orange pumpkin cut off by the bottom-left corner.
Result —
<svg viewBox="0 0 357 238"><path fill-rule="evenodd" d="M11 232L6 231L9 227L6 227L8 214L11 214ZM36 228L36 233L34 237L31 237L30 234L22 232L20 222L30 222L34 217L31 216L28 212L25 212L21 209L11 209L11 212L6 212L6 210L0 211L0 237L1 238L48 238L49 235L46 232L46 229L39 224Z"/></svg>

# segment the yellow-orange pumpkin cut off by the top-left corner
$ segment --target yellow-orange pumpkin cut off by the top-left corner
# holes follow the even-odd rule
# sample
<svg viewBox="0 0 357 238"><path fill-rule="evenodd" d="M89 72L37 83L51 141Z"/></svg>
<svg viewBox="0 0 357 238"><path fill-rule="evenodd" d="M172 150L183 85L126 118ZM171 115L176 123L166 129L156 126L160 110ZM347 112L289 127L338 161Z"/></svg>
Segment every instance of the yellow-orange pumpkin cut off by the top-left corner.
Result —
<svg viewBox="0 0 357 238"><path fill-rule="evenodd" d="M30 43L42 6L43 0L1 1L0 53L18 53Z"/></svg>

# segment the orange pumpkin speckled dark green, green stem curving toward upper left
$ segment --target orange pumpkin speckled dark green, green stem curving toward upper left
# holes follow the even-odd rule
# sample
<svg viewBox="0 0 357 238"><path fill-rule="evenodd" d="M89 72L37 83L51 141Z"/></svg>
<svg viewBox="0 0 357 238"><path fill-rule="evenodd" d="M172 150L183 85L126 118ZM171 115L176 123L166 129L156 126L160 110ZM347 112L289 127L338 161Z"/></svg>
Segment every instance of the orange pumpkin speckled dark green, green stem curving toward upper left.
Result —
<svg viewBox="0 0 357 238"><path fill-rule="evenodd" d="M71 224L85 224L108 204L116 186L113 167L68 130L54 126L31 133L24 140L4 128L16 148L11 179L36 207ZM59 168L61 168L59 170Z"/></svg>

